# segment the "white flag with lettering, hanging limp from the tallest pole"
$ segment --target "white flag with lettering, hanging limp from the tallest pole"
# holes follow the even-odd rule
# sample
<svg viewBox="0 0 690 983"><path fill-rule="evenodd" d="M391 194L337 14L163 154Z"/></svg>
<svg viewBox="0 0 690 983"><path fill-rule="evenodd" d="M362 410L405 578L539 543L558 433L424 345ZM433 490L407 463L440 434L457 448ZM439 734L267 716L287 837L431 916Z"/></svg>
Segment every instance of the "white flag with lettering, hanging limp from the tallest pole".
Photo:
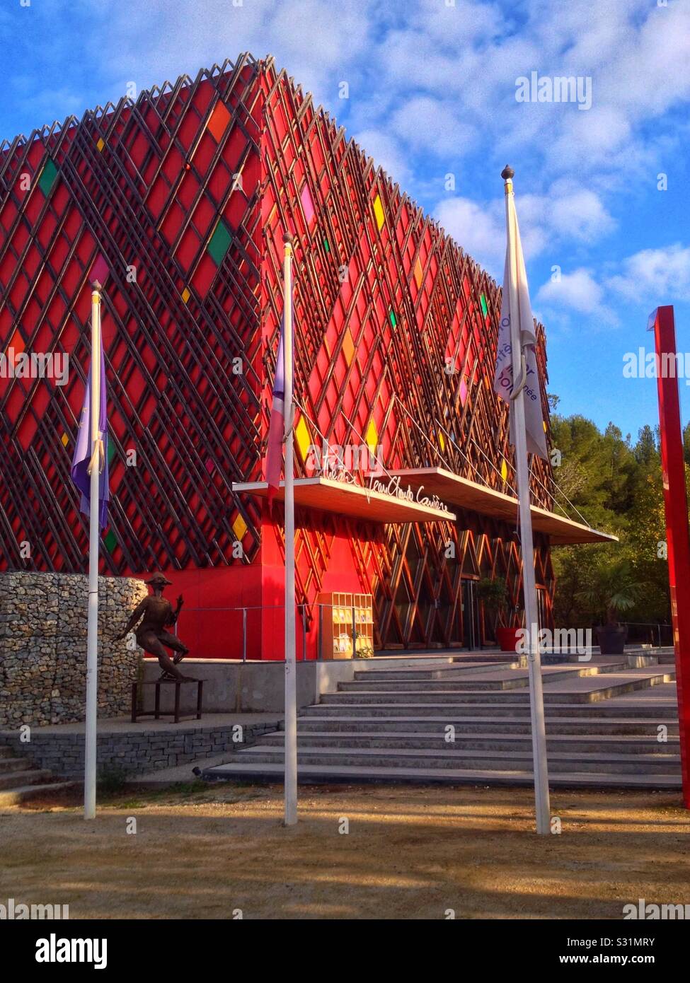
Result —
<svg viewBox="0 0 690 983"><path fill-rule="evenodd" d="M525 354L527 381L525 383L525 429L527 431L527 449L529 453L538 454L544 459L546 453L546 437L544 435L543 416L541 414L541 388L539 374L536 368L536 335L534 334L534 319L530 304L530 291L525 271L525 258L520 242L518 216L515 213L513 196L510 197L511 219L513 222L513 242L515 244L516 262L514 269L517 274L518 311L515 312L515 334L512 331L513 312L510 309L510 239L506 247L506 264L503 272L503 303L501 304L501 322L498 327L498 350L496 352L496 375L493 387L498 395L510 405L513 391L513 337L520 339ZM510 442L515 445L513 428L515 414L511 406L510 413Z"/></svg>

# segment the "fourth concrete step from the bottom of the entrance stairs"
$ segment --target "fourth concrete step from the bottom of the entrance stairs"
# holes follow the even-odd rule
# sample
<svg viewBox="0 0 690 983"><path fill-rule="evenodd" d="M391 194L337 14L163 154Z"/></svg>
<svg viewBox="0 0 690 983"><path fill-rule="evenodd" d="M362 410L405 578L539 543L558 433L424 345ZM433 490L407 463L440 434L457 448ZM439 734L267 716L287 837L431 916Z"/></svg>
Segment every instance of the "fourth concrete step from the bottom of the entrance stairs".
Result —
<svg viewBox="0 0 690 983"><path fill-rule="evenodd" d="M488 717L488 718L509 718L511 721L530 720L529 703L501 703L493 702L494 695L486 697L486 703L465 703L463 700L456 700L452 703L416 703L413 700L400 703L377 703L369 701L367 703L356 703L354 701L335 701L324 703L326 696L339 694L325 694L322 702L311 707L305 707L300 711L301 717L439 717L443 716L448 720L463 720L464 718ZM555 719L559 717L591 717L593 713L592 704L589 703L550 703L547 716ZM600 703L596 706L596 715L604 719L630 718L638 720L652 720L659 723L677 723L678 705L673 700L663 701L663 703L634 703L627 702L621 704Z"/></svg>

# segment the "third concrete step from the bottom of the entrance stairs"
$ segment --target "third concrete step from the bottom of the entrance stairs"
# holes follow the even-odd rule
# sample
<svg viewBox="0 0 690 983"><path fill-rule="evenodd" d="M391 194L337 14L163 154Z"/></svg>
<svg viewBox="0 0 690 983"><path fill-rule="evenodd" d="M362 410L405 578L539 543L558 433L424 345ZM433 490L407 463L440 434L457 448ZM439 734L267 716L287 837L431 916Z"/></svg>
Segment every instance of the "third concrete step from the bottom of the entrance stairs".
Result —
<svg viewBox="0 0 690 983"><path fill-rule="evenodd" d="M340 748L422 748L426 750L455 750L455 751L529 751L532 753L531 734L484 733L468 734L457 731L453 741L446 740L444 726L438 725L435 732L420 732L413 730L388 730L383 733L371 730L356 731L304 731L298 725L297 742L299 747L340 747ZM265 734L261 738L265 747L282 748L284 733L278 731ZM680 753L678 737L670 737L667 741L659 742L656 737L638 737L628 734L548 734L546 747L550 751L565 751L569 754L584 752L586 754L673 754Z"/></svg>

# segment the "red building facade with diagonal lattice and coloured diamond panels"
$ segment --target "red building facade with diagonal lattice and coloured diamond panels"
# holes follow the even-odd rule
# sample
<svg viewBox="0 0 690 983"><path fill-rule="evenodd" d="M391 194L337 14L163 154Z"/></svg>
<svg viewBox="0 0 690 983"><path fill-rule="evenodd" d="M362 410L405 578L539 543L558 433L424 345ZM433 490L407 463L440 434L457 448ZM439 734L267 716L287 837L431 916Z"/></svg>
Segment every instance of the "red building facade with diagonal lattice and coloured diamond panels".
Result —
<svg viewBox="0 0 690 983"><path fill-rule="evenodd" d="M0 378L4 568L86 570L69 469L96 269L112 498L101 572L164 570L193 655L282 657L282 509L232 486L263 477L286 231L297 476L315 474L310 446L326 440L376 448L391 474L442 468L487 500L514 494L492 387L496 284L272 59L243 56L0 146L0 350L69 356L64 385ZM545 391L542 408L548 421ZM548 466L533 474L533 503L551 513ZM441 522L298 507L298 654L315 657L314 605L330 591L373 596L377 647L478 644L476 581L505 577L519 607L521 562L515 521L477 501ZM549 623L550 539L536 528Z"/></svg>

